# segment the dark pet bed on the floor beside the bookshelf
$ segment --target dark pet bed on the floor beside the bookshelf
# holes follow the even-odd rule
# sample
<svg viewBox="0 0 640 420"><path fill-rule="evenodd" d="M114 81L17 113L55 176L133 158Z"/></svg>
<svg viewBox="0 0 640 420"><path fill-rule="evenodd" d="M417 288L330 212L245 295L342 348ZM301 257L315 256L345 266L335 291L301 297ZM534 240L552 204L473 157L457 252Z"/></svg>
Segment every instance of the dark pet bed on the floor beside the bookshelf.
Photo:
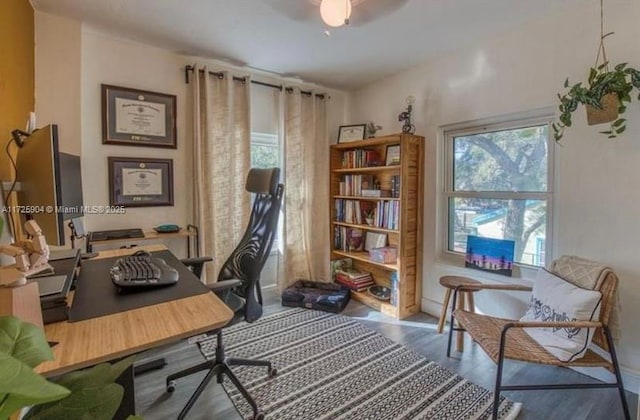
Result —
<svg viewBox="0 0 640 420"><path fill-rule="evenodd" d="M351 294L349 288L335 283L298 280L282 292L282 306L299 306L338 313Z"/></svg>

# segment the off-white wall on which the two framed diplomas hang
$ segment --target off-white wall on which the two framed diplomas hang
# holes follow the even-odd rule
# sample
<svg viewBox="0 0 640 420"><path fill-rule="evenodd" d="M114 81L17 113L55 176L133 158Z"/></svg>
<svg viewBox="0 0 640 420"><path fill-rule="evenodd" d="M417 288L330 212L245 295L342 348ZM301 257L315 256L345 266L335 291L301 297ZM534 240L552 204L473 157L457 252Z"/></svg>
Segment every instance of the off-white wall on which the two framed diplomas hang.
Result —
<svg viewBox="0 0 640 420"><path fill-rule="evenodd" d="M38 12L36 19L36 98L38 124L60 125L63 150L82 157L85 205L108 205L108 156L170 158L174 164L174 206L127 208L126 214L86 215L87 230L141 227L163 223L185 226L191 220L191 99L184 81L187 64L207 64L212 70L250 74L273 84L299 85L327 93L328 125L343 123L346 94L321 86L281 79L268 73L230 68L219 61L184 56L118 38L73 19ZM102 144L101 84L162 92L177 97L178 149ZM255 111L255 110L254 110ZM182 240L169 243L184 254Z"/></svg>

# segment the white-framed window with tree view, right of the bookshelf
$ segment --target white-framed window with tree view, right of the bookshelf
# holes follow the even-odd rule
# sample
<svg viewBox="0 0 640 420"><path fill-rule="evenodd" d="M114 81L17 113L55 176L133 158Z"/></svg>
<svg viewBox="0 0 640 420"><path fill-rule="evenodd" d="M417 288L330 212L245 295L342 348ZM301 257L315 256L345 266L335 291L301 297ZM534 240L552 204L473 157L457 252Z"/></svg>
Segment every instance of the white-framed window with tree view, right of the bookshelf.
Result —
<svg viewBox="0 0 640 420"><path fill-rule="evenodd" d="M514 261L544 266L551 255L550 118L445 132L446 244L465 253L467 235L515 241Z"/></svg>

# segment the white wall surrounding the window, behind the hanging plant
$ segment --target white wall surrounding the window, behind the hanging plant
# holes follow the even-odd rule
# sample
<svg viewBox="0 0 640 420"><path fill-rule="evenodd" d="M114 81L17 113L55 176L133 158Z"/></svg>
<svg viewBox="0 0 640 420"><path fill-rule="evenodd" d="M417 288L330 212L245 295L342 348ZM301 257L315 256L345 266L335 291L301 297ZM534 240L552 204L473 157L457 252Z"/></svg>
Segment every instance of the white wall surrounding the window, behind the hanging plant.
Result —
<svg viewBox="0 0 640 420"><path fill-rule="evenodd" d="M610 0L607 39L612 62L640 67L640 2ZM446 34L443 34L446 36ZM556 93L568 76L584 79L593 65L599 40L599 2L589 0L517 30L430 60L353 92L353 121L373 120L384 133L399 132L397 115L407 95L416 97L417 133L426 137L423 310L438 315L444 274L477 271L461 268L462 259L441 254L439 213L442 191L442 126L534 109L557 108ZM637 92L635 93L637 97ZM619 356L630 375L640 372L640 103L627 111L627 132L616 140L587 127L582 112L567 130L556 153L554 254L575 254L611 265L620 277L623 337ZM504 278L489 278L504 281ZM515 281L519 281L516 279ZM481 302L482 303L482 302ZM493 306L500 306L502 303ZM517 306L517 305L516 305ZM627 384L635 392L637 384Z"/></svg>

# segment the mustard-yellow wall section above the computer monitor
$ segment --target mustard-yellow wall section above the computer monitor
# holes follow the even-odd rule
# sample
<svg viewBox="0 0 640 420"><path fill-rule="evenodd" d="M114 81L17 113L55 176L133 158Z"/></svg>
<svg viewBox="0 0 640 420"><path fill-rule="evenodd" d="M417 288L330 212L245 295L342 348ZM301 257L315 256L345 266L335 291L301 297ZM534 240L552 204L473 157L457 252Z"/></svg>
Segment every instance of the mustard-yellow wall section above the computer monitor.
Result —
<svg viewBox="0 0 640 420"><path fill-rule="evenodd" d="M0 143L11 131L25 129L34 108L33 8L27 0L0 2ZM13 175L9 160L0 153L0 180Z"/></svg>

